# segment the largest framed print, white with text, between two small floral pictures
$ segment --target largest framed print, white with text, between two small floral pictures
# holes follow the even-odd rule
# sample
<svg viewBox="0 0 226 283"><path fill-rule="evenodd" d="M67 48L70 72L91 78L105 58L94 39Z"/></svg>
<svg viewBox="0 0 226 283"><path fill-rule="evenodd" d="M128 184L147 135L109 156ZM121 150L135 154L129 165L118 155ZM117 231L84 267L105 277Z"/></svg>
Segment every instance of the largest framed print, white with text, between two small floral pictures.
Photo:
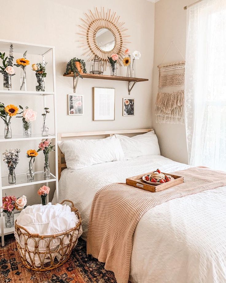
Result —
<svg viewBox="0 0 226 283"><path fill-rule="evenodd" d="M115 120L115 89L93 88L93 121Z"/></svg>

